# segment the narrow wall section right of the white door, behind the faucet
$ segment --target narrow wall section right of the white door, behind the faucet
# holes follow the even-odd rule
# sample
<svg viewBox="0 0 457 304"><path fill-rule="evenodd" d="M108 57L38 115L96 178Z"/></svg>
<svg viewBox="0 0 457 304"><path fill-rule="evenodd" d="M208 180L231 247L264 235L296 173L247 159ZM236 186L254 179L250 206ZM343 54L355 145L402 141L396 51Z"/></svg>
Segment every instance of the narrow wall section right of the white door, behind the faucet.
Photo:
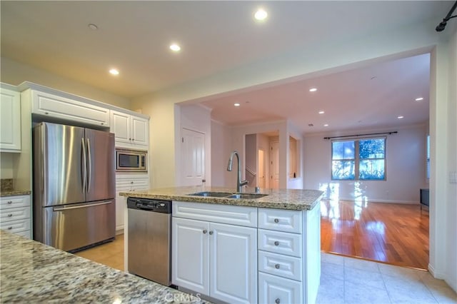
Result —
<svg viewBox="0 0 457 304"><path fill-rule="evenodd" d="M211 186L236 186L235 178L227 171L231 151L231 128L211 121Z"/></svg>

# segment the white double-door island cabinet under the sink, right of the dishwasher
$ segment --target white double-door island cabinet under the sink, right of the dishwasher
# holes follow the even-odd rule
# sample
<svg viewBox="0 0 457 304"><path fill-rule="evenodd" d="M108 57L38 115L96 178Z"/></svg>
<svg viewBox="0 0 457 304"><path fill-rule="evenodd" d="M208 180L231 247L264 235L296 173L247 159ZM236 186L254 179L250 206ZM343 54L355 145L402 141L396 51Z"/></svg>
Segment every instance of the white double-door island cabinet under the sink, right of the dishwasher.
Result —
<svg viewBox="0 0 457 304"><path fill-rule="evenodd" d="M229 222L236 210L233 218L239 223L256 208L190 203L199 205L196 211L189 203L173 203L172 283L228 303L257 303L257 229L213 222ZM179 217L186 210L199 219ZM204 221L205 216L213 221Z"/></svg>

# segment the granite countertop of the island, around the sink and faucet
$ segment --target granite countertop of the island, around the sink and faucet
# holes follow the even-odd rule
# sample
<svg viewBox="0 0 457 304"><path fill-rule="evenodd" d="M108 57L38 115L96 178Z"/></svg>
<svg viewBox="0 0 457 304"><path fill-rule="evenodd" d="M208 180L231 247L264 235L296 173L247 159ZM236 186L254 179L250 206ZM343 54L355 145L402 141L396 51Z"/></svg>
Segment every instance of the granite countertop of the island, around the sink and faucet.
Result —
<svg viewBox="0 0 457 304"><path fill-rule="evenodd" d="M236 193L233 188L220 187L174 187L156 188L148 191L121 192L121 196L134 198L156 198L171 201L188 201L196 203L216 203L221 205L248 206L261 208L311 210L319 202L322 191L295 189L261 189L260 193L267 194L262 198L217 198L209 196L189 196L201 191ZM243 193L253 193L252 188L243 189Z"/></svg>

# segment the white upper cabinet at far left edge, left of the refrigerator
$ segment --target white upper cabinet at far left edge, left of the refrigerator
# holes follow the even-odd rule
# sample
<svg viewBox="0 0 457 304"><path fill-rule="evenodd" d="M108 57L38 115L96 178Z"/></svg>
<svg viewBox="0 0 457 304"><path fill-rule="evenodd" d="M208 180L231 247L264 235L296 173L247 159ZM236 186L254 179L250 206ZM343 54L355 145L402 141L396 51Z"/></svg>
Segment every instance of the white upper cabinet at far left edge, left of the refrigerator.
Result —
<svg viewBox="0 0 457 304"><path fill-rule="evenodd" d="M21 96L3 84L0 88L0 151L21 152Z"/></svg>

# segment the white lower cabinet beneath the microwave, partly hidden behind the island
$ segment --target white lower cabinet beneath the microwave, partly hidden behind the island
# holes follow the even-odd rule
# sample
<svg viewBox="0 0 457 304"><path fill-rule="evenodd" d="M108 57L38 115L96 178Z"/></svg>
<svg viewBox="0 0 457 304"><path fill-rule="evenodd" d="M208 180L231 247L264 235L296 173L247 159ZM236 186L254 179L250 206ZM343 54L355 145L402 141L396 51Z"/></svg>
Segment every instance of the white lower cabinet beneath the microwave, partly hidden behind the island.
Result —
<svg viewBox="0 0 457 304"><path fill-rule="evenodd" d="M124 213L127 211L127 198L119 192L149 189L147 174L116 174L116 231L124 231Z"/></svg>

